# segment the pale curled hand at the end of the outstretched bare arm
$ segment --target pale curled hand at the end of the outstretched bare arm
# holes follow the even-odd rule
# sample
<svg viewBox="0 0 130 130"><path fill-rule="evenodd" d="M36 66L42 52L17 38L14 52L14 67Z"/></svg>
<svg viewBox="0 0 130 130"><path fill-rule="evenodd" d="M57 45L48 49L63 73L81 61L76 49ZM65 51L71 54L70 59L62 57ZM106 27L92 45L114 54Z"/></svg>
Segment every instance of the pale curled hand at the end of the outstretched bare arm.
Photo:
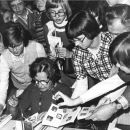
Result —
<svg viewBox="0 0 130 130"><path fill-rule="evenodd" d="M58 106L73 106L73 99L69 98L68 96L64 95L62 92L57 92L53 99L59 100L60 98L63 99L63 102L59 103Z"/></svg>

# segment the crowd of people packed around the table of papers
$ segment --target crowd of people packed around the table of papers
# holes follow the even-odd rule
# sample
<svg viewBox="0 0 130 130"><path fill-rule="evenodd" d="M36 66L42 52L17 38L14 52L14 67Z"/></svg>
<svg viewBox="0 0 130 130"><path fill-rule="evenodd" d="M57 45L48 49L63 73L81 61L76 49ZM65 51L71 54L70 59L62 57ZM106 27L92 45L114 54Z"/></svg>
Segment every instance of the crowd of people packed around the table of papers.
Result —
<svg viewBox="0 0 130 130"><path fill-rule="evenodd" d="M129 0L1 1L0 114L21 119L52 102L94 107L67 126L87 130L130 117L129 12Z"/></svg>

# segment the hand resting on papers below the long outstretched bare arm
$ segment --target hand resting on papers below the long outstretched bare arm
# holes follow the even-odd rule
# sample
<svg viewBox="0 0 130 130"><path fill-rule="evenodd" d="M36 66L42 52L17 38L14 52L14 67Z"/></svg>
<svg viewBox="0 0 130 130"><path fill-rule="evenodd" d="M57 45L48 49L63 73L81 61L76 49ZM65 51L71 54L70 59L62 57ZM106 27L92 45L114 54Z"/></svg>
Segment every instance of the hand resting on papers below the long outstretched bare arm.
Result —
<svg viewBox="0 0 130 130"><path fill-rule="evenodd" d="M93 114L87 118L93 121L106 121L117 112L117 107L115 103L104 104L95 109Z"/></svg>

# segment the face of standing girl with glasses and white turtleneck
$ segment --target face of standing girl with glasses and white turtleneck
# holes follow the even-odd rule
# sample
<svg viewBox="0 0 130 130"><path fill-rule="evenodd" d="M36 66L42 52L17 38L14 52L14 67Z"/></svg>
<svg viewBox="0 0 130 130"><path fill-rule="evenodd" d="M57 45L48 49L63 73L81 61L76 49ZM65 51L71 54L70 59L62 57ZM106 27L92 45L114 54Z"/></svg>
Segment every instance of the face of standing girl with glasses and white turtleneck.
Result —
<svg viewBox="0 0 130 130"><path fill-rule="evenodd" d="M65 9L63 9L62 6L59 4L58 8L50 9L50 16L55 23L61 24L66 18Z"/></svg>

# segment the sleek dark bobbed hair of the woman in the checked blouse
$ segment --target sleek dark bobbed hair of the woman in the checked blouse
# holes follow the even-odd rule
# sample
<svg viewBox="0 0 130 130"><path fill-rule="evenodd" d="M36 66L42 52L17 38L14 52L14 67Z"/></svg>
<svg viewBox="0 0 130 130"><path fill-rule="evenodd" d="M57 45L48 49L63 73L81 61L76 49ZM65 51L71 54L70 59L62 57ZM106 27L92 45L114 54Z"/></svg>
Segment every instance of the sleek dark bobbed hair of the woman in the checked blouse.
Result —
<svg viewBox="0 0 130 130"><path fill-rule="evenodd" d="M80 11L71 16L66 26L66 34L73 39L84 34L88 39L94 39L100 32L99 24L87 11Z"/></svg>

